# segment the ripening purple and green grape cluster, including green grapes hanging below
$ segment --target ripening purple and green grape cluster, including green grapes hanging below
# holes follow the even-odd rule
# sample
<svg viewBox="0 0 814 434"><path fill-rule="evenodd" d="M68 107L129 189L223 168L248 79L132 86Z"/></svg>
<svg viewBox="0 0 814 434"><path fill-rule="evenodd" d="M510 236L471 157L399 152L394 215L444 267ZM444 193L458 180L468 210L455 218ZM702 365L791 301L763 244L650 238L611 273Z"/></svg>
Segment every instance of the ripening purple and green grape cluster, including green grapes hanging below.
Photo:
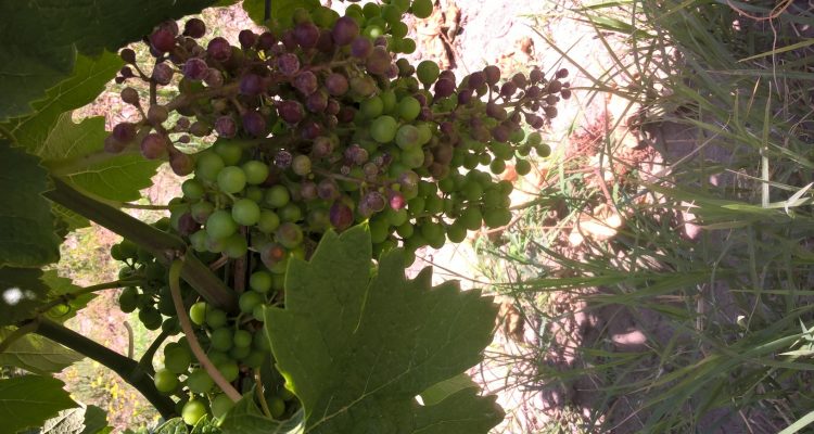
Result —
<svg viewBox="0 0 814 434"><path fill-rule="evenodd" d="M486 66L457 82L434 62L414 66L394 59L416 49L406 37L407 12L429 16L432 2L354 3L344 16L300 9L289 28L242 30L239 46L220 37L202 43L205 25L192 18L183 29L167 23L145 38L151 71L131 50L120 53L129 65L117 80L144 80L151 95L145 103L133 88L122 91L142 118L116 125L105 149L139 146L147 158L166 157L177 175L192 175L170 203L171 230L200 254L236 265L224 269L245 272L221 270L240 288L239 311L194 299L189 305L199 340L230 382L270 365L262 307L284 303L289 259L307 258L326 230L367 222L377 254L402 245L414 255L460 242L467 231L511 219L512 184L493 175L507 164L526 175L532 151L550 152L534 130L570 98L568 71L546 78L535 67L504 79L498 67ZM158 102L155 90L169 85L178 93ZM182 152L192 136L214 144ZM169 294L157 283L166 270L138 252L132 256L129 245L118 248L131 269L156 282L141 293L126 289L123 310L139 307L153 329L162 314L169 317L164 323L174 320ZM183 340L167 348L156 385L193 396L185 420L205 410L202 396L222 413L228 398L217 394ZM288 391L272 390L272 413L293 411Z"/></svg>

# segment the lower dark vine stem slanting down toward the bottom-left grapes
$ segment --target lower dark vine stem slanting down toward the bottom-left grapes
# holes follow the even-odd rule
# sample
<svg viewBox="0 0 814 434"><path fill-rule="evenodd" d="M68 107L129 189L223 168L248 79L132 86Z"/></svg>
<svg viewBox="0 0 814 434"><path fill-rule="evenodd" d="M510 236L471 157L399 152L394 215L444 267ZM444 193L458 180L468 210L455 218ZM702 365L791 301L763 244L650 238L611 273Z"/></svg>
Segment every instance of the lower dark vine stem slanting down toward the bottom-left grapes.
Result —
<svg viewBox="0 0 814 434"><path fill-rule="evenodd" d="M153 379L139 363L81 334L46 318L39 317L21 326L34 324L33 332L82 354L116 372L124 381L136 387L164 419L175 414L175 403L155 388ZM17 329L20 330L20 329Z"/></svg>

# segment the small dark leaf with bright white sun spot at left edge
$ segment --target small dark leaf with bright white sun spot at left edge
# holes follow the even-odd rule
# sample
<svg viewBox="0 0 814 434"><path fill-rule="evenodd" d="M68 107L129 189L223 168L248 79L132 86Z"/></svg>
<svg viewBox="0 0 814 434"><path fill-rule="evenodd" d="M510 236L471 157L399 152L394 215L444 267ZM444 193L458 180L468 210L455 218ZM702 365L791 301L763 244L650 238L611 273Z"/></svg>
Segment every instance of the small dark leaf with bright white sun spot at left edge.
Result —
<svg viewBox="0 0 814 434"><path fill-rule="evenodd" d="M0 327L30 318L48 301L49 288L38 268L0 267Z"/></svg>

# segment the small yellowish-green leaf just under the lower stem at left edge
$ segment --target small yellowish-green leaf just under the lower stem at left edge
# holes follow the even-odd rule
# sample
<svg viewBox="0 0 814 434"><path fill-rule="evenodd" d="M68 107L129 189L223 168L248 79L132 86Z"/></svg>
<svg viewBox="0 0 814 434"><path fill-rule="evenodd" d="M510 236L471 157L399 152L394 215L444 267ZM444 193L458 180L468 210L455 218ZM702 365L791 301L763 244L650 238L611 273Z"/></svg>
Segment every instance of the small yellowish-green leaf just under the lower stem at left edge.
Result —
<svg viewBox="0 0 814 434"><path fill-rule="evenodd" d="M11 328L0 329L0 341L11 334ZM36 374L60 372L85 356L36 334L26 334L0 353L0 365L25 369Z"/></svg>

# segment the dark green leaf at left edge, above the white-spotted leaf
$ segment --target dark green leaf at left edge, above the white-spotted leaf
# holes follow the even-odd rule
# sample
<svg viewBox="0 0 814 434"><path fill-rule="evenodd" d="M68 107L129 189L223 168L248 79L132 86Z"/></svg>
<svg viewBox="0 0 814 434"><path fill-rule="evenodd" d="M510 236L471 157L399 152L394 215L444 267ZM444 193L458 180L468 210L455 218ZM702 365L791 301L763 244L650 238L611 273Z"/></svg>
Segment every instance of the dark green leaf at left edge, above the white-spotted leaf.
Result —
<svg viewBox="0 0 814 434"><path fill-rule="evenodd" d="M0 267L39 267L60 258L54 216L42 196L48 175L39 158L0 140Z"/></svg>

